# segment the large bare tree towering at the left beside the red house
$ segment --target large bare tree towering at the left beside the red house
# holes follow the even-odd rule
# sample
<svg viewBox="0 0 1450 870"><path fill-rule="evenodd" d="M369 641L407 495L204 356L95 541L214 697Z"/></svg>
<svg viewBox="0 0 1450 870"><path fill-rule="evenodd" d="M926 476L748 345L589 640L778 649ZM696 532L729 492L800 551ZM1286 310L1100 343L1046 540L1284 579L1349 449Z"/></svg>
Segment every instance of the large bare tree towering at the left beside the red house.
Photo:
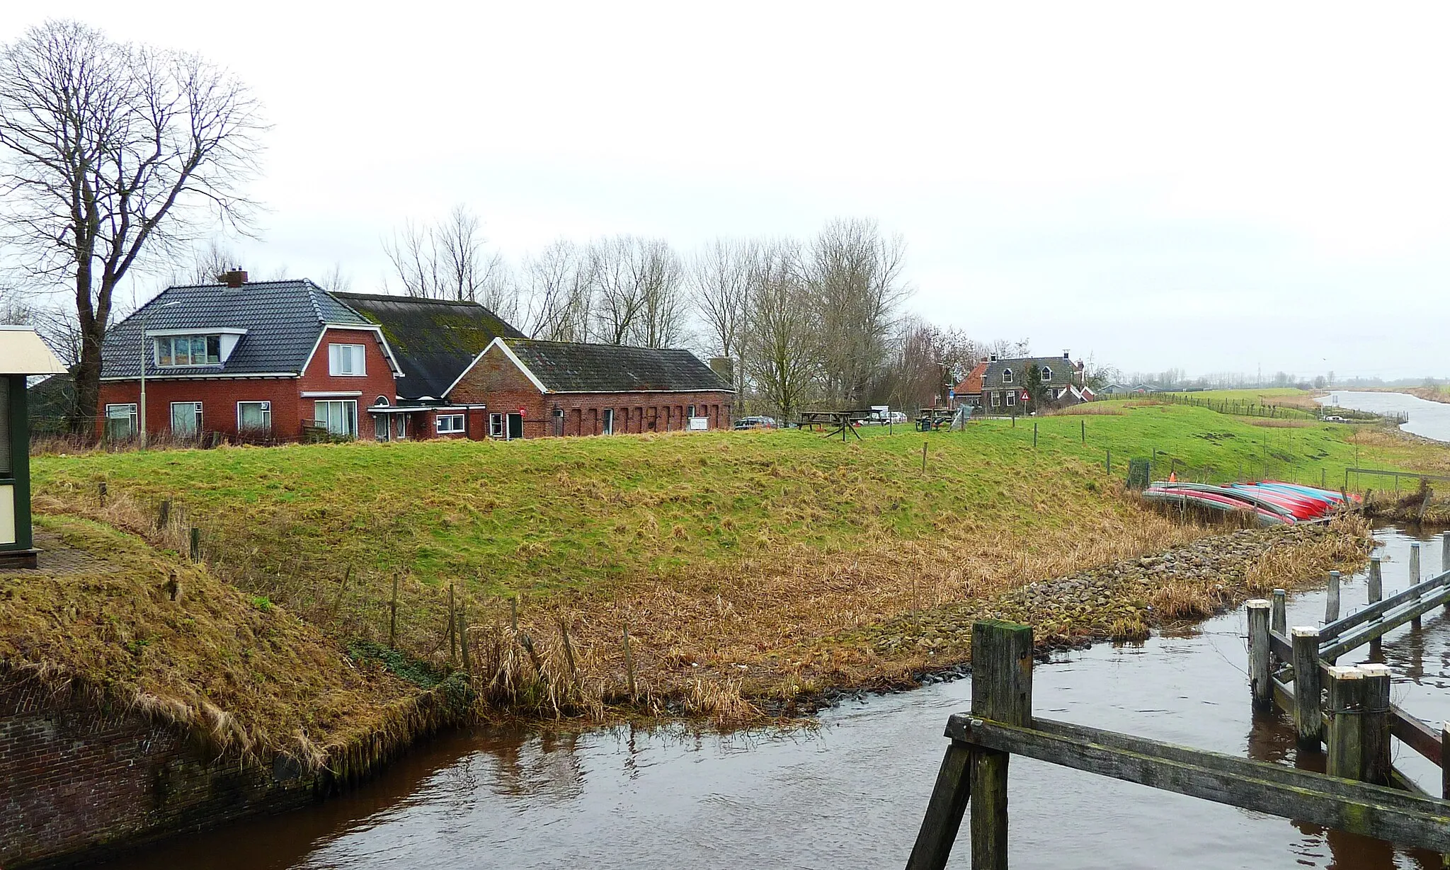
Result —
<svg viewBox="0 0 1450 870"><path fill-rule="evenodd" d="M116 284L199 226L245 228L258 106L193 54L49 20L0 48L0 220L17 267L72 284L81 332L71 425L96 415Z"/></svg>

